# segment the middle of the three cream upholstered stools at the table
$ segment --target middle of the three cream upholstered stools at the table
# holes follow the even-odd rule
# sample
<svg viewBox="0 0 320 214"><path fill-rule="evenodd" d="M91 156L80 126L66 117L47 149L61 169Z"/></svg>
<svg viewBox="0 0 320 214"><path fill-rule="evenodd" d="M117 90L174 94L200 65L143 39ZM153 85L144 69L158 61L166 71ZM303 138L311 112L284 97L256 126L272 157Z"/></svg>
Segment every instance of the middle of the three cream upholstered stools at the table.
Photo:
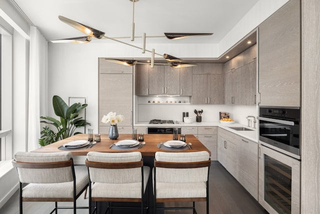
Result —
<svg viewBox="0 0 320 214"><path fill-rule="evenodd" d="M89 213L91 213L91 201L116 201L140 202L141 205L113 206L109 203L105 212L110 208L140 208L143 214L147 208L144 207L144 192L150 167L143 166L140 152L88 152L85 165L88 167L90 177Z"/></svg>

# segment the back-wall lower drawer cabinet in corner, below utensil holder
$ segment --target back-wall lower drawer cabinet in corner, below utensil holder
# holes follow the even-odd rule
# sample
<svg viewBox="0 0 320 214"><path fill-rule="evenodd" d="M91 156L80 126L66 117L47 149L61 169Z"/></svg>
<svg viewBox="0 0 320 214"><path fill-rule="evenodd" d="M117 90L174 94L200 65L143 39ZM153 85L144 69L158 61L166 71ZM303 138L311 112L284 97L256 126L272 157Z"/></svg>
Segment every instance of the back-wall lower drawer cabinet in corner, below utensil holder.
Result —
<svg viewBox="0 0 320 214"><path fill-rule="evenodd" d="M211 160L216 160L216 143L217 143L217 127L213 126L199 126L198 140L210 150Z"/></svg>

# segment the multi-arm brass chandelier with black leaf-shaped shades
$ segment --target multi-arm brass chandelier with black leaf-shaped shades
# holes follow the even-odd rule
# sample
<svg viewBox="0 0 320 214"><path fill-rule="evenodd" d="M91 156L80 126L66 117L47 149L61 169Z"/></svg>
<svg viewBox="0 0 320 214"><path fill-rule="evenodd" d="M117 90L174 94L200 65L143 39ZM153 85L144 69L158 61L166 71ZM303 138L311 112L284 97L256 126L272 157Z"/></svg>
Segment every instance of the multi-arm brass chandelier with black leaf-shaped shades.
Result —
<svg viewBox="0 0 320 214"><path fill-rule="evenodd" d="M86 34L87 36L82 36L82 37L74 37L74 38L67 38L67 39L60 39L60 40L53 40L51 41L52 43L88 43L92 39L109 39L118 43L122 43L124 45L128 45L137 49L140 49L142 53L149 52L151 53L151 68L154 66L154 55L158 55L163 57L166 61L168 61L168 65L173 67L173 68L181 68L181 67L188 67L188 66L195 66L196 64L192 63L184 63L182 59L170 56L168 54L158 54L154 52L154 49L146 50L145 49L145 39L146 38L158 38L158 37L166 37L169 40L176 40L176 39L183 39L187 37L192 37L192 36L210 36L213 33L164 33L164 36L146 36L145 33L142 34L141 37L136 37L134 36L134 3L138 2L139 0L129 0L133 3L133 18L132 18L132 25L131 25L131 37L107 37L105 36L105 33L102 31L99 31L97 29L91 28L89 26L83 25L81 23L78 23L76 21L70 20L68 18L65 18L63 16L58 16L59 20L75 29L78 31ZM120 41L119 39L124 39L124 38L130 38L131 41L134 41L134 38L142 38L142 48L125 43L123 41ZM144 63L139 63L136 60L117 60L117 59L109 59L110 62L115 62L119 63L122 65L127 65L127 66L133 66L135 64L144 64Z"/></svg>

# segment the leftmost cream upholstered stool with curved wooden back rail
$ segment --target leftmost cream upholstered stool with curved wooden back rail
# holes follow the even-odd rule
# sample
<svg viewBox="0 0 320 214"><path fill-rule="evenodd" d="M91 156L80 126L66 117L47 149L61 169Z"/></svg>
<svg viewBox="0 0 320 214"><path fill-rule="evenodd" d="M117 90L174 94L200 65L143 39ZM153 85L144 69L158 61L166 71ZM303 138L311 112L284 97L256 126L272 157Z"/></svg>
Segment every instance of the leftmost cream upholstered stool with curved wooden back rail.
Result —
<svg viewBox="0 0 320 214"><path fill-rule="evenodd" d="M19 178L19 206L22 201L54 201L50 212L72 208L76 213L76 198L87 188L89 176L85 166L74 166L70 152L17 152L12 164ZM23 183L28 183L22 188ZM73 206L57 206L57 201L73 201Z"/></svg>

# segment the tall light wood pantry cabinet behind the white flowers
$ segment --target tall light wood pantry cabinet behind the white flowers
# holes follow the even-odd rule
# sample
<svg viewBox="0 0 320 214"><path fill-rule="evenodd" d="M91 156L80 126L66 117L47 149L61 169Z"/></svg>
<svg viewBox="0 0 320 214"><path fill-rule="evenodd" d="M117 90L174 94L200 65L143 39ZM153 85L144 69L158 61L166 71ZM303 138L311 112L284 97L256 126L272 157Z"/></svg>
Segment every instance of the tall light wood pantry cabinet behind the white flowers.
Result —
<svg viewBox="0 0 320 214"><path fill-rule="evenodd" d="M117 66L117 64L106 62L102 58L99 59L99 133L108 133L110 124L102 123L101 118L110 111L124 116L124 120L118 125L119 133L131 133L133 84L132 67L130 67L131 73L128 73L128 71L125 73L109 73L108 71L112 70L113 66Z"/></svg>

